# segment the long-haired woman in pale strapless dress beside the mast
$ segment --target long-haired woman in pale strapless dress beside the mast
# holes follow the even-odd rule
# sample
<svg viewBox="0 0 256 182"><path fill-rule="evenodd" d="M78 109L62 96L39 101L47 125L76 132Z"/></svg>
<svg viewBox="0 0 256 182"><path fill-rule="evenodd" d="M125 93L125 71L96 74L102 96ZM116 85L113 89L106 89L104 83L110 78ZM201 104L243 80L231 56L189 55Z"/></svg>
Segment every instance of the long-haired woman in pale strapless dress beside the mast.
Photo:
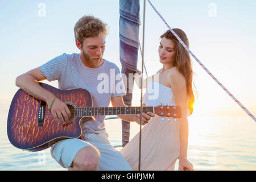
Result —
<svg viewBox="0 0 256 182"><path fill-rule="evenodd" d="M184 31L178 28L174 28L174 31L189 47ZM158 106L160 103L180 106L181 118L163 117L163 121L160 121L161 117L156 115L143 127L141 170L174 170L177 159L179 159L179 170L193 170L193 165L187 159L187 115L192 114L195 101L191 59L189 53L170 30L160 36L158 52L163 68L143 81L143 86L147 88L143 102L147 106ZM135 81L138 82L138 78L139 73L136 73ZM158 88L159 93L156 99L150 98L148 90L152 88ZM138 170L138 146L139 133L121 150L121 154L134 170Z"/></svg>

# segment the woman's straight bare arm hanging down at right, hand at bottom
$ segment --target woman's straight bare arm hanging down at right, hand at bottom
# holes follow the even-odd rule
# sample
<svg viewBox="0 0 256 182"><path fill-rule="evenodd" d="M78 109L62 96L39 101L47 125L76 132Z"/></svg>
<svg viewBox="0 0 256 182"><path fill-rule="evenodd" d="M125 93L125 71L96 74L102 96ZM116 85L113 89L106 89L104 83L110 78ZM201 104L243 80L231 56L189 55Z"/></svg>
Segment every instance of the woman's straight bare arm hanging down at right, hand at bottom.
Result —
<svg viewBox="0 0 256 182"><path fill-rule="evenodd" d="M179 121L179 137L180 137L180 154L179 154L179 168L181 170L187 168L193 170L192 164L187 160L188 151L188 118L187 118L187 89L186 81L183 75L177 70L173 69L168 75L169 84L174 93L175 104L180 106L181 118Z"/></svg>

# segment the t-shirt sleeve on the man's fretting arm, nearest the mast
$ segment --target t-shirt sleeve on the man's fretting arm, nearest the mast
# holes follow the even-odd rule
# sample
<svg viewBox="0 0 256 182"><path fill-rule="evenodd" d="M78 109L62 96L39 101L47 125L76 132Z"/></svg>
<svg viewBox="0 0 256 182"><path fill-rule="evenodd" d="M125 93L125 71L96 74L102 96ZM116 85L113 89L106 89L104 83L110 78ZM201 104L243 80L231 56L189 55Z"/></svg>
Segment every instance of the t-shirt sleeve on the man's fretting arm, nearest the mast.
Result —
<svg viewBox="0 0 256 182"><path fill-rule="evenodd" d="M114 92L112 92L112 97L124 96L125 92L125 84L123 84L122 73L120 72L117 65L115 65L115 88Z"/></svg>

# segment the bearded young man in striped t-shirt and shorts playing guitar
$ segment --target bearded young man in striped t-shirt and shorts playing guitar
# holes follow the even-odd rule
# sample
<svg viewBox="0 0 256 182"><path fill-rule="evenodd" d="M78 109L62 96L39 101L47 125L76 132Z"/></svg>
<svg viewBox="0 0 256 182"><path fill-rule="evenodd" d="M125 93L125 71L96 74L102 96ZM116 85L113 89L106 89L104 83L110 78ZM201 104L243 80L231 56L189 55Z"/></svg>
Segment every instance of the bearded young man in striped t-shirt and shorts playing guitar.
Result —
<svg viewBox="0 0 256 182"><path fill-rule="evenodd" d="M76 23L74 32L80 53L64 53L16 78L16 86L31 96L46 101L48 106L52 105L53 117L63 123L68 121L71 114L67 105L42 88L39 81L58 80L61 90L84 88L92 94L94 107L108 107L110 101L113 107L126 106L122 100L122 95L125 94L124 86L121 92L115 92L115 88L118 87L117 81L109 79L108 85L104 85L109 92L99 92L99 85L102 82L99 79L100 74L111 78L111 74L115 73L116 76L120 73L117 65L102 58L107 34L106 24L93 16L82 16ZM147 123L154 114L143 113L142 116L142 122ZM139 115L118 117L126 121L140 122ZM69 170L130 170L129 163L109 143L104 118L105 116L100 116L95 121L84 123L83 140L65 139L53 144L52 157Z"/></svg>

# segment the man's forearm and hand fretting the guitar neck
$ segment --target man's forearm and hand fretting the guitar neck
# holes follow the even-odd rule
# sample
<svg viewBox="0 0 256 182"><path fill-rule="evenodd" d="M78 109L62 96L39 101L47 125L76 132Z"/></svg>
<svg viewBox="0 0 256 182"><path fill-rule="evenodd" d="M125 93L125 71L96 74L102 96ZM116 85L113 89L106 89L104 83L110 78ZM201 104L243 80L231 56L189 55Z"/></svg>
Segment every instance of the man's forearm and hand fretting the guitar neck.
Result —
<svg viewBox="0 0 256 182"><path fill-rule="evenodd" d="M113 107L127 107L123 102L122 96L112 97L111 102ZM141 123L140 114L117 115L117 117L125 121L130 121L130 122L135 121L138 124ZM151 117L155 117L155 114L151 112L148 112L147 114L142 113L142 123L148 123Z"/></svg>

